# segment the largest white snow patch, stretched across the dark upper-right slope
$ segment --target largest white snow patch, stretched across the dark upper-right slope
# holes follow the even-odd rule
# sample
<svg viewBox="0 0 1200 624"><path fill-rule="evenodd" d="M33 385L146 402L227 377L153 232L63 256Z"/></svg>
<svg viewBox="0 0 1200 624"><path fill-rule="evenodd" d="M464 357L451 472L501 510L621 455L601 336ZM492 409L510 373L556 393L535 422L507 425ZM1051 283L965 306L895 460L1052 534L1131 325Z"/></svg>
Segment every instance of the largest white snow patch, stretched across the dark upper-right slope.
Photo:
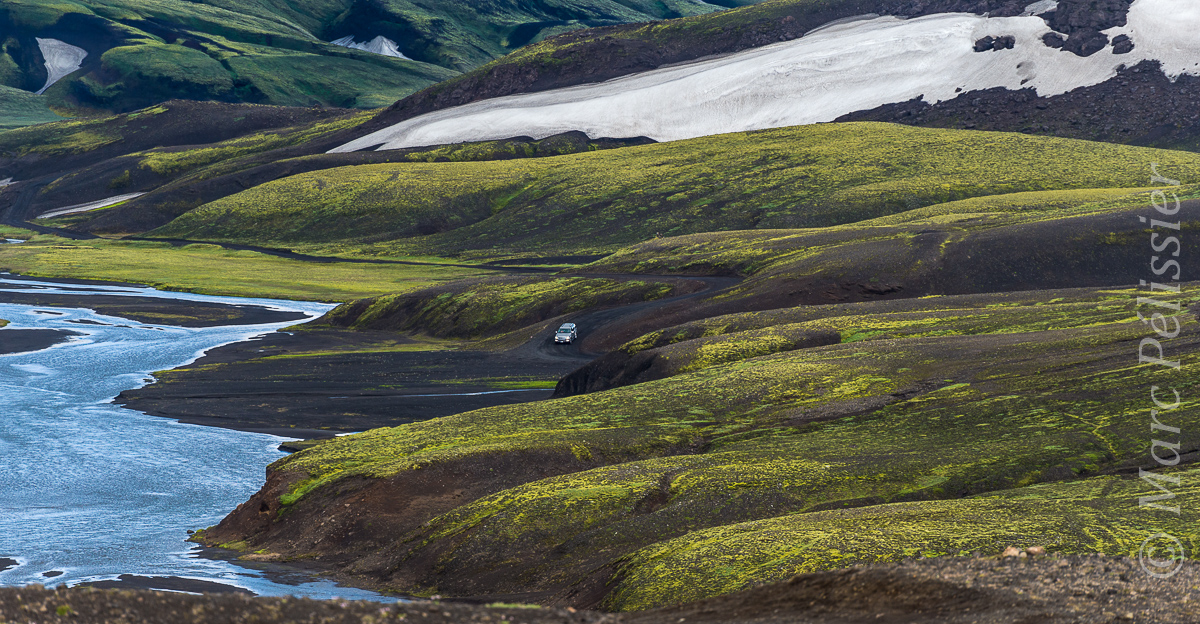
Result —
<svg viewBox="0 0 1200 624"><path fill-rule="evenodd" d="M515 95L421 115L331 152L395 150L568 131L590 137L678 140L833 121L856 110L962 91L1031 88L1042 97L1100 84L1122 65L1158 60L1172 79L1200 74L1200 2L1135 0L1126 26L1138 44L1081 58L1046 47L1039 17L940 13L834 24L802 38L616 78ZM1012 49L977 54L983 37L1015 36Z"/></svg>

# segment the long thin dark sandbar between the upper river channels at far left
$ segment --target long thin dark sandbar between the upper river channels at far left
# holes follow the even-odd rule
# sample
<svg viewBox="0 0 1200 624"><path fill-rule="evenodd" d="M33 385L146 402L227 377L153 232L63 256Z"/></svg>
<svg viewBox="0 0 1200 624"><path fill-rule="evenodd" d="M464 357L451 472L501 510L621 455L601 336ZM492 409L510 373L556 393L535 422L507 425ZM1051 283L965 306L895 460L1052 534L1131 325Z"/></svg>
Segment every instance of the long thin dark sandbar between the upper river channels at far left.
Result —
<svg viewBox="0 0 1200 624"><path fill-rule="evenodd" d="M58 280L54 281L58 282ZM22 288L20 286L12 284L6 284L5 287ZM152 296L91 295L84 293L95 290L85 287L79 288L79 294L53 294L38 292L36 288L30 287L28 292L0 293L0 301L28 306L85 307L95 310L100 314L127 318L138 323L184 328L259 325L307 318L302 312L284 312L263 306L184 301Z"/></svg>

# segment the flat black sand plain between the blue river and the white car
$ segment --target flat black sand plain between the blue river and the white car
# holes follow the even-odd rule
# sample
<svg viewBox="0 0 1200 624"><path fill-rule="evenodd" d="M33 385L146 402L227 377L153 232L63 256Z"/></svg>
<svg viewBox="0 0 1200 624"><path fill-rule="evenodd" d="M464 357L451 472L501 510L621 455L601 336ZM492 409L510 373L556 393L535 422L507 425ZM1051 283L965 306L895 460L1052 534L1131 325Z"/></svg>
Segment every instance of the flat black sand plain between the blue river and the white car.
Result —
<svg viewBox="0 0 1200 624"><path fill-rule="evenodd" d="M488 380L521 376L554 382L588 360L571 347L550 355L535 350L368 350L406 342L396 334L372 331L275 332L212 349L193 365L156 374L160 383L121 392L116 402L196 425L328 438L335 432L540 401L553 389L497 392L500 388ZM366 353L344 353L353 350Z"/></svg>

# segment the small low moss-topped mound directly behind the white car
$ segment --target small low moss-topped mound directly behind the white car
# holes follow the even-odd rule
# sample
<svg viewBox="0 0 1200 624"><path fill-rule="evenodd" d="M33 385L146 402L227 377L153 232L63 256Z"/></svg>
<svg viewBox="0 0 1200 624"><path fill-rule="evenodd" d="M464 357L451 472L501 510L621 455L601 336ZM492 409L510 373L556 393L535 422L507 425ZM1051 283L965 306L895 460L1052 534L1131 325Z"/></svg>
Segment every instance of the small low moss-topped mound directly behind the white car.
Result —
<svg viewBox="0 0 1200 624"><path fill-rule="evenodd" d="M322 322L335 326L479 338L572 312L688 294L700 282L587 277L488 277L343 304Z"/></svg>

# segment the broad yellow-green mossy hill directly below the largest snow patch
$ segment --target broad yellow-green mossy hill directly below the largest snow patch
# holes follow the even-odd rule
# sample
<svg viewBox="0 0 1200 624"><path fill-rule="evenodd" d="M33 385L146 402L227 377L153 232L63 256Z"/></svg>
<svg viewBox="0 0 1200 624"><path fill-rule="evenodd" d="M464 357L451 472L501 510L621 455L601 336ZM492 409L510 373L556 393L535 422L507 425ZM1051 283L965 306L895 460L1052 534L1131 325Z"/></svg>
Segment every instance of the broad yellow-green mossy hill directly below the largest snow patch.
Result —
<svg viewBox="0 0 1200 624"><path fill-rule="evenodd" d="M286 246L388 241L373 251L611 252L658 235L828 227L972 197L1140 187L1150 162L1200 178L1200 156L1187 152L828 124L554 158L330 169L212 202L152 235ZM1106 196L1078 199L1097 197Z"/></svg>

